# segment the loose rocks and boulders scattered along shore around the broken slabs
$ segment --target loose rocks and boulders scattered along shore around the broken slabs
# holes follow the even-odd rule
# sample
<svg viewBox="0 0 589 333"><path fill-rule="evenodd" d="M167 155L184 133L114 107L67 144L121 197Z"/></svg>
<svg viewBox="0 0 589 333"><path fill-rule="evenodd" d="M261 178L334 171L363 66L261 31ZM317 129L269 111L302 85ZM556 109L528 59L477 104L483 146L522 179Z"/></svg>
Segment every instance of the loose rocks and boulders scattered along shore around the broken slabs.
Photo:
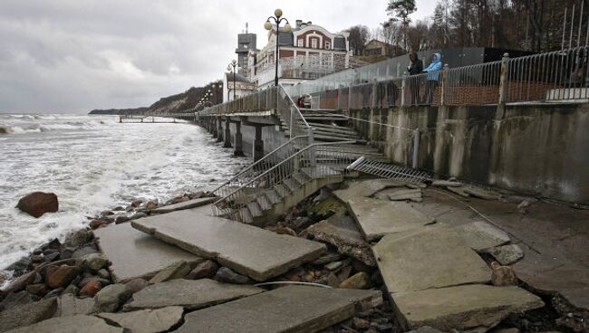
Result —
<svg viewBox="0 0 589 333"><path fill-rule="evenodd" d="M455 186L456 184L458 183L448 182L439 183L437 186L445 187L453 193L457 191L462 193L459 187ZM87 228L70 233L63 243L54 239L35 249L29 257L22 258L9 267L17 278L0 292L0 331L25 327L43 319L71 315L94 315L106 319L114 327L121 328L130 328L132 325L138 325L141 328L140 321L144 320L141 316L153 315L161 319L160 325L158 330L150 328L151 330L148 331L174 330L181 326L183 316L191 310L190 306L185 306L184 310L177 306L150 309L149 306L140 305L140 291L148 290L158 293L162 292L161 290L174 288L170 283L181 284L182 281L217 281L243 285L246 288L249 288L247 286L254 288L256 285L266 290L274 290L288 284L312 283L335 289L379 290L386 295L388 291L371 250L373 243L368 243L362 237L356 237L357 232L354 231L338 236L330 229L333 225L346 229L353 224L348 207L333 195L333 190L337 188L338 186L324 187L319 193L289 210L277 222L266 225L266 230L275 233L325 243L328 252L313 262L305 263L265 283L256 283L245 275L224 267L219 262L205 259L194 262L174 262L154 276L116 283L111 278L110 262L101 254L93 230L109 227L110 224L130 223L131 220L157 214L155 211L162 206L205 198L210 194L204 191L189 193L162 203L155 200L134 201L126 207L119 206L104 211L90 219ZM467 192L478 196L488 194L477 192L472 188L468 188ZM391 200L394 197L394 200L420 202L422 189L419 186L412 186L394 193L384 191L380 194L391 197ZM378 195L375 196L378 197ZM497 200L497 197L491 195L488 200ZM531 201L524 198L522 203L526 200ZM518 281L509 266L495 261L497 255L489 253L482 257L493 269L493 285L523 286L526 290L541 296L546 303L542 309L509 316L493 328L494 332L519 330L542 332L556 328L565 332L582 331L579 330L583 329L582 326L575 328L565 324L566 320L578 322L578 319L584 319L586 313L572 309L565 300L560 303L555 302L557 298L554 295L543 294L539 290L525 286L522 281ZM176 288L180 287L176 286ZM131 309L137 311L128 312ZM133 314L132 316L139 317L130 319L130 313ZM132 325L129 322L132 322ZM507 328L511 330L501 330ZM141 329L137 330L141 331ZM324 332L346 333L402 331L400 322L395 317L393 305L387 298L384 298L381 305L360 311L351 319L324 330ZM432 328L427 332L437 332L437 330Z"/></svg>

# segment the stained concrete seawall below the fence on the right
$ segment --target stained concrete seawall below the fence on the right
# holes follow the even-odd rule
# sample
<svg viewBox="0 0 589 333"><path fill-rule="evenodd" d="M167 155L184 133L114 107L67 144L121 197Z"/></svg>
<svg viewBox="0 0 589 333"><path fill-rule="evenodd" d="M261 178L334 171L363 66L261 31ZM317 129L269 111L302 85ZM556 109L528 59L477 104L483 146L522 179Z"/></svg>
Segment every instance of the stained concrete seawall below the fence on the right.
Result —
<svg viewBox="0 0 589 333"><path fill-rule="evenodd" d="M406 128L420 128L419 166L437 176L589 204L587 104L352 109L350 115L353 127L394 163L411 165L413 131Z"/></svg>

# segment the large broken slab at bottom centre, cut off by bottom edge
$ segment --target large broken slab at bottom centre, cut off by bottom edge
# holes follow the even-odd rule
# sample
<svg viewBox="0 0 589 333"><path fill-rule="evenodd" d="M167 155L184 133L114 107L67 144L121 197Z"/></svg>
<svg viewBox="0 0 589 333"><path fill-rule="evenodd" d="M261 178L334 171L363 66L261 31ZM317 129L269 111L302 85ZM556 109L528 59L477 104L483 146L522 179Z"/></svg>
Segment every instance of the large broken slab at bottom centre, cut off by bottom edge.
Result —
<svg viewBox="0 0 589 333"><path fill-rule="evenodd" d="M381 291L288 286L201 309L178 332L316 332L382 302Z"/></svg>

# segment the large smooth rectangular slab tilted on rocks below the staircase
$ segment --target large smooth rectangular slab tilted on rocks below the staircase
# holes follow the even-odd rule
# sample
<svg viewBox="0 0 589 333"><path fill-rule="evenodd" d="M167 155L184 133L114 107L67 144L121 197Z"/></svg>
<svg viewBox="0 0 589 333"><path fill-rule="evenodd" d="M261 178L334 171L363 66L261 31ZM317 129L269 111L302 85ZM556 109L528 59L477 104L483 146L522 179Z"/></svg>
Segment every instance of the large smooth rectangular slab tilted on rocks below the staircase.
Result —
<svg viewBox="0 0 589 333"><path fill-rule="evenodd" d="M131 225L256 281L266 281L319 258L327 247L253 225L209 216L210 207L161 214Z"/></svg>

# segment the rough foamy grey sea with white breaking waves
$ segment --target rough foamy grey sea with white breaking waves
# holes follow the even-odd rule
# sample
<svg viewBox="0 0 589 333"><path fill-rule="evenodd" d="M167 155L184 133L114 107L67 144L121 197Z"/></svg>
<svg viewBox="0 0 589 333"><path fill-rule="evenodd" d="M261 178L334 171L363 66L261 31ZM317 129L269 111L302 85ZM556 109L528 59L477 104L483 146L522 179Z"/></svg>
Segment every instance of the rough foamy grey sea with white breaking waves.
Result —
<svg viewBox="0 0 589 333"><path fill-rule="evenodd" d="M0 114L0 271L101 211L211 188L247 163L183 121ZM37 219L15 208L34 191L56 194L59 212Z"/></svg>

